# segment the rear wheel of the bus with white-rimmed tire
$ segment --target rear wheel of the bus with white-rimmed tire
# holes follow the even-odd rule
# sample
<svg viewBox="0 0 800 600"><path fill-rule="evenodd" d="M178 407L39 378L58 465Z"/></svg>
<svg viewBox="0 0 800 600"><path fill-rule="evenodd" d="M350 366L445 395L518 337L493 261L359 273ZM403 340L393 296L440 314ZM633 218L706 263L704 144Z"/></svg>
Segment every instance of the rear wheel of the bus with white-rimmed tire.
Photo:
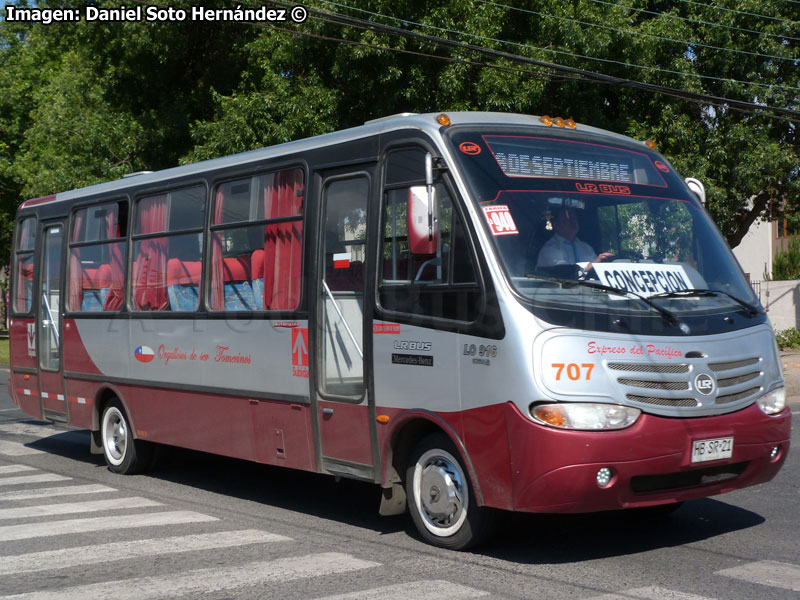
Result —
<svg viewBox="0 0 800 600"><path fill-rule="evenodd" d="M112 473L134 475L146 471L152 465L152 444L134 439L130 421L116 398L103 410L100 437L103 441L103 456Z"/></svg>

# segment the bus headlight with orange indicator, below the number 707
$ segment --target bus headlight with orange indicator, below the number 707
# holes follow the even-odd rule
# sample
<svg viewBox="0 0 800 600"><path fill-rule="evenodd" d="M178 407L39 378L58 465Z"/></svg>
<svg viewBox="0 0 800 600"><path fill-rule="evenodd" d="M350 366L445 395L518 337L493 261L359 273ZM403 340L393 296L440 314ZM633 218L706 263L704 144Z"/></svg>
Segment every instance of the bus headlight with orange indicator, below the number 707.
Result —
<svg viewBox="0 0 800 600"><path fill-rule="evenodd" d="M642 414L638 408L594 402L534 404L530 410L534 420L543 425L585 431L625 429Z"/></svg>

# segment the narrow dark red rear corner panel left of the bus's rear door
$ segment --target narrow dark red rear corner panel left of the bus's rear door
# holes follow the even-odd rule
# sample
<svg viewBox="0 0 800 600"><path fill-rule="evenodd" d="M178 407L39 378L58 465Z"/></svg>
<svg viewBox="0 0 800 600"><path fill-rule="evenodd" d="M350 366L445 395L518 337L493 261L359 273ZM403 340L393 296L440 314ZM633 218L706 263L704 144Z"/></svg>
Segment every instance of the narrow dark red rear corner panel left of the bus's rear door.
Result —
<svg viewBox="0 0 800 600"><path fill-rule="evenodd" d="M39 376L36 362L36 323L33 319L12 319L9 329L11 352L11 389L19 407L26 415L42 417L39 398ZM17 368L30 370L18 373Z"/></svg>

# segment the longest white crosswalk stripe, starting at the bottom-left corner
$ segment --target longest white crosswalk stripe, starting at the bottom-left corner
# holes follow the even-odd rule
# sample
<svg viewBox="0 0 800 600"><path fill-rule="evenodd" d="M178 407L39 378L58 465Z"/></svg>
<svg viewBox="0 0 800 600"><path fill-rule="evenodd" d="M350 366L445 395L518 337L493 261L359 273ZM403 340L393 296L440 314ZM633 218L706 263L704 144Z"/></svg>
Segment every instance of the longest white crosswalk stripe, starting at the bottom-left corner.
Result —
<svg viewBox="0 0 800 600"><path fill-rule="evenodd" d="M3 596L0 600L86 600L86 598L114 598L114 600L158 600L182 596L200 597L226 590L265 583L283 583L346 573L380 566L379 563L354 558L339 552L311 554L280 558L273 561L253 562L238 567L221 567L187 571L181 575L138 577L104 583L93 583L60 590L42 590Z"/></svg>

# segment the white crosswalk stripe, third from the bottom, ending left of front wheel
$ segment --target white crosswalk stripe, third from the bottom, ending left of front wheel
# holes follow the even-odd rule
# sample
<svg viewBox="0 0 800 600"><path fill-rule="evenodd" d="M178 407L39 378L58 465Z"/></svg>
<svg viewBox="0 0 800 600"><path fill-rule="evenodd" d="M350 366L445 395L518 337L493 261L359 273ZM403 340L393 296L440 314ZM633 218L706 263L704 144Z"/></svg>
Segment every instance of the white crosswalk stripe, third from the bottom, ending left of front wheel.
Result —
<svg viewBox="0 0 800 600"><path fill-rule="evenodd" d="M288 542L291 540L292 538L275 533L245 529L242 531L221 531L161 539L112 542L110 544L83 546L80 548L32 552L18 556L3 556L3 560L0 562L0 575L70 569L131 558L150 559L163 554L233 548L270 542Z"/></svg>

